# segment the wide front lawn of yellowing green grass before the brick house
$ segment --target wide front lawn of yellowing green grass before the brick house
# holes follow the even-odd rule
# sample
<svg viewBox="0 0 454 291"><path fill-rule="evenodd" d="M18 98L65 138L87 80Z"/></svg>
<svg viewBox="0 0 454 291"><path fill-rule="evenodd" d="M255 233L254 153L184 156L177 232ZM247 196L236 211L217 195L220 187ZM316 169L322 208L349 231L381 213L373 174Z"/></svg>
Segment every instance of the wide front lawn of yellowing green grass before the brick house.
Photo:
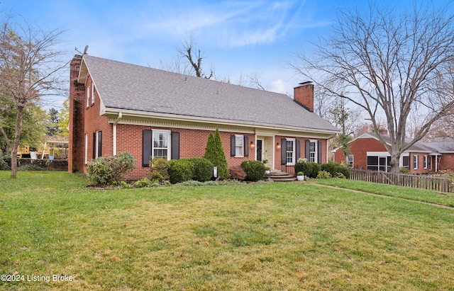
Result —
<svg viewBox="0 0 454 291"><path fill-rule="evenodd" d="M0 172L0 274L24 276L0 290L454 290L454 209L307 183L86 184Z"/></svg>

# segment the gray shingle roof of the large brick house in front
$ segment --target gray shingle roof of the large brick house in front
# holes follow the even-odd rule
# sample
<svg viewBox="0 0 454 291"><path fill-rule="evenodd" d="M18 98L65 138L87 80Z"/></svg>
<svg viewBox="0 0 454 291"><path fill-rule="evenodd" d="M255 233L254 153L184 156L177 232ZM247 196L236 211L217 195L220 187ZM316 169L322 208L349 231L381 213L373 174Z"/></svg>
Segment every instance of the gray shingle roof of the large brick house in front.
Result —
<svg viewBox="0 0 454 291"><path fill-rule="evenodd" d="M281 94L84 55L106 108L338 132Z"/></svg>

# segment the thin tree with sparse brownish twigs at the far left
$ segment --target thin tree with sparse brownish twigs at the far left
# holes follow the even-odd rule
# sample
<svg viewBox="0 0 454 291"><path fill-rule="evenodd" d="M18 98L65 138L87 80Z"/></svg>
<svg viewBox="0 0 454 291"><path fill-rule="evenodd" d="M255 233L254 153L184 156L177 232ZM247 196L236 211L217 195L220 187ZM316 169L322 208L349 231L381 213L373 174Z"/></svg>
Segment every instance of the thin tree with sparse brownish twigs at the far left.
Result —
<svg viewBox="0 0 454 291"><path fill-rule="evenodd" d="M28 23L7 18L0 28L0 94L16 109L13 139L1 126L0 132L11 149L11 178L16 178L17 147L23 130L23 111L40 101L45 92L56 89L56 73L65 67L62 52L54 50L61 30L43 31Z"/></svg>

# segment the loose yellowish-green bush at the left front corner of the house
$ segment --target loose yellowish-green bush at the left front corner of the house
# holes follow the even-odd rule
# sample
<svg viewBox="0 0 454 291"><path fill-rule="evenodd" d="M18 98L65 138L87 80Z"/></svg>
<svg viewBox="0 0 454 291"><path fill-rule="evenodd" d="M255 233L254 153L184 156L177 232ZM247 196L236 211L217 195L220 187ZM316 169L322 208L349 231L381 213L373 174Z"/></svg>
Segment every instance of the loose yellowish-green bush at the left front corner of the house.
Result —
<svg viewBox="0 0 454 291"><path fill-rule="evenodd" d="M135 169L134 156L128 152L116 156L100 156L90 161L87 173L96 186L115 186L126 176L126 173Z"/></svg>

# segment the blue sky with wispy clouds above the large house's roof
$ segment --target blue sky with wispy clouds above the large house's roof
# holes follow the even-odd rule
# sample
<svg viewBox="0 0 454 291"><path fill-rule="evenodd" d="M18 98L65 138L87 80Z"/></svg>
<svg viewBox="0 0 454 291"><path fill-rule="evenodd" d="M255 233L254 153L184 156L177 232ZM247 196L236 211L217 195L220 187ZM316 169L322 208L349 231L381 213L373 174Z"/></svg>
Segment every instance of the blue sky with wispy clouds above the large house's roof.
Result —
<svg viewBox="0 0 454 291"><path fill-rule="evenodd" d="M206 70L234 84L257 72L266 89L292 94L306 81L289 68L292 55L310 52L309 41L327 33L340 3L349 2L3 0L0 8L44 30L65 30L59 48L68 59L74 47L89 45L89 55L160 68L192 34Z"/></svg>

